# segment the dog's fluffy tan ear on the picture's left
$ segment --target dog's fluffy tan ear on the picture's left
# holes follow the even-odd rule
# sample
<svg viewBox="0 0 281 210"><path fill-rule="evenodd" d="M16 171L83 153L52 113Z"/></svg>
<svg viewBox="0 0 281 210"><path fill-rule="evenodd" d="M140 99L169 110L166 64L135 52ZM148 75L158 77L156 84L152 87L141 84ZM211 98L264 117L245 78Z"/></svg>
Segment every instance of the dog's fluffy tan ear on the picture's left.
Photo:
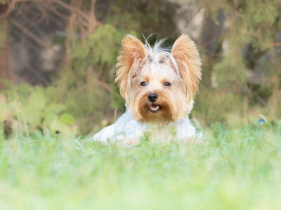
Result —
<svg viewBox="0 0 281 210"><path fill-rule="evenodd" d="M122 49L117 57L117 76L115 82L118 83L120 94L129 102L129 82L141 69L146 50L143 43L138 38L127 35L122 41Z"/></svg>

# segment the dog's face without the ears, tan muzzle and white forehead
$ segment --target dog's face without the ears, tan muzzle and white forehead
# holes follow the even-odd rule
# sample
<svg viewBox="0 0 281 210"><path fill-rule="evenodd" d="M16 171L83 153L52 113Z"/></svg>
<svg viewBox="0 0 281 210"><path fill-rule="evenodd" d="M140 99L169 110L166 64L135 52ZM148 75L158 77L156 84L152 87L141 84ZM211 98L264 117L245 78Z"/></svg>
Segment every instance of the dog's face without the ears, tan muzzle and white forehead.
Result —
<svg viewBox="0 0 281 210"><path fill-rule="evenodd" d="M145 64L132 80L129 110L145 123L166 123L183 116L188 99L184 85L167 64Z"/></svg>

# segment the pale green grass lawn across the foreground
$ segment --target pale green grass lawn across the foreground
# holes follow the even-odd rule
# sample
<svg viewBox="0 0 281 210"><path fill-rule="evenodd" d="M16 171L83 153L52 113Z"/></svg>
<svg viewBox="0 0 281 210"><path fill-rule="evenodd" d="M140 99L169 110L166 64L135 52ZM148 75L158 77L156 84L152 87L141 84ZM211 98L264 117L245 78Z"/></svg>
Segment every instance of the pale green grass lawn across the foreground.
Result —
<svg viewBox="0 0 281 210"><path fill-rule="evenodd" d="M204 144L102 145L46 132L0 144L0 209L281 209L280 128Z"/></svg>

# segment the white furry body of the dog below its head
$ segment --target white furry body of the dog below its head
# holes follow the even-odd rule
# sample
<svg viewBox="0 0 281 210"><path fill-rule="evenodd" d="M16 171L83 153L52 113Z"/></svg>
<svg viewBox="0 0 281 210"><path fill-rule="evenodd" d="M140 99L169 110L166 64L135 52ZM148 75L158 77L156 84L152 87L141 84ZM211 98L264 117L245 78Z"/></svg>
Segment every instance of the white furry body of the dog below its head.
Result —
<svg viewBox="0 0 281 210"><path fill-rule="evenodd" d="M188 116L166 125L150 125L134 120L129 111L126 111L114 124L95 134L93 141L103 143L122 141L126 143L137 141L145 132L151 134L150 140L153 142L171 141L172 139L190 141L197 137L195 127L190 123Z"/></svg>

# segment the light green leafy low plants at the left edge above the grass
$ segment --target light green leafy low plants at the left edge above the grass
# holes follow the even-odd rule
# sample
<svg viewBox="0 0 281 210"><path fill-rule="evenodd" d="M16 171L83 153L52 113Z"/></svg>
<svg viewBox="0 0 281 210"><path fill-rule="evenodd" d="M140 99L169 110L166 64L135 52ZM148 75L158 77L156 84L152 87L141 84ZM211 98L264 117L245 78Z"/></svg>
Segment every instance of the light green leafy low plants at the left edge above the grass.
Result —
<svg viewBox="0 0 281 210"><path fill-rule="evenodd" d="M11 87L0 94L0 130L2 138L11 135L29 136L33 132L48 130L64 137L74 137L77 126L64 104L49 100L49 88L27 84ZM5 132L3 132L5 130Z"/></svg>

